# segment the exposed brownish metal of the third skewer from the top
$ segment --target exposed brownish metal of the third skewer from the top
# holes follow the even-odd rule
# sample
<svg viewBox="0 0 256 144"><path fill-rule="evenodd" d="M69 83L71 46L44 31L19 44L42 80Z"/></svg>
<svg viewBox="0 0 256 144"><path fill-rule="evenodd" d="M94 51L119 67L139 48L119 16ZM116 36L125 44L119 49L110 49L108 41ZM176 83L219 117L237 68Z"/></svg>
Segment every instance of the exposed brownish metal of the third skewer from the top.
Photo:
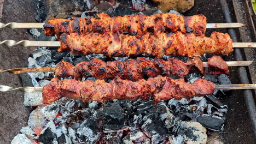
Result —
<svg viewBox="0 0 256 144"><path fill-rule="evenodd" d="M226 62L229 67L236 67L236 66L248 66L253 61L230 61ZM208 67L207 62L203 62L203 67ZM0 73L6 71L12 74L21 74L21 73L37 73L37 72L54 72L57 68L56 67L44 67L44 68L15 68L15 69L0 69Z"/></svg>

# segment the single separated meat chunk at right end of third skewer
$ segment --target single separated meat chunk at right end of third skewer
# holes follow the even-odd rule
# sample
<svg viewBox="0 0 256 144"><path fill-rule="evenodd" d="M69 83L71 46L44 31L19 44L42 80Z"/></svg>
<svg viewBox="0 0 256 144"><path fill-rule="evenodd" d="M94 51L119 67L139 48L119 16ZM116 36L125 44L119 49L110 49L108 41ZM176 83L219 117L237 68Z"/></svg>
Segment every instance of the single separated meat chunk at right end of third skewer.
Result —
<svg viewBox="0 0 256 144"><path fill-rule="evenodd" d="M229 74L229 68L224 59L220 56L213 56L207 59L208 73L211 75Z"/></svg>

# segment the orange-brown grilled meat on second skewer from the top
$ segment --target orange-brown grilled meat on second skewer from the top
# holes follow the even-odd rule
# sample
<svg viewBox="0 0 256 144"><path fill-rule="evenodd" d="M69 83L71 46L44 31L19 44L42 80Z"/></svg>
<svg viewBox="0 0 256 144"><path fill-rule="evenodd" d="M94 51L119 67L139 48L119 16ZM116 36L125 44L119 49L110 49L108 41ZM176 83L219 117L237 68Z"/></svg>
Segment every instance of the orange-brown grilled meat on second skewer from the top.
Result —
<svg viewBox="0 0 256 144"><path fill-rule="evenodd" d="M59 52L71 51L74 54L102 53L108 57L147 56L161 58L164 55L201 56L228 55L233 51L232 39L228 34L213 32L211 37L196 37L195 34L157 33L141 37L118 33L77 33L60 37Z"/></svg>

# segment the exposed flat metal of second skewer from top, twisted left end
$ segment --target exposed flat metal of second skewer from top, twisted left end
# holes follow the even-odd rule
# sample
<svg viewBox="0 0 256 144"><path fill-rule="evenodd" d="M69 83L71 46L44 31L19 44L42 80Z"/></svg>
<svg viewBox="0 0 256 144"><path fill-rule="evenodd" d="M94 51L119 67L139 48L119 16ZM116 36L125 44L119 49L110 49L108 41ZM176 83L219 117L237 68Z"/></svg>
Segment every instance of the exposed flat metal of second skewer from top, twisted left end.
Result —
<svg viewBox="0 0 256 144"><path fill-rule="evenodd" d="M45 46L45 47L60 47L60 41L32 41L32 40L4 40L0 41L0 45L5 44L7 46L22 45L22 46ZM252 48L256 47L256 43L232 43L234 48Z"/></svg>

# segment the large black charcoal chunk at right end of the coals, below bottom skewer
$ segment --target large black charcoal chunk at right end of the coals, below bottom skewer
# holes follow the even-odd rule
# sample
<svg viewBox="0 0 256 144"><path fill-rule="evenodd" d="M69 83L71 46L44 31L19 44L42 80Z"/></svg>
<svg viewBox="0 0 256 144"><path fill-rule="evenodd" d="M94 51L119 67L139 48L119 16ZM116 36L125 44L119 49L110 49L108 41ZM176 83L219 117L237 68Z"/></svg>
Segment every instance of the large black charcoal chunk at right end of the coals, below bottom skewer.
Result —
<svg viewBox="0 0 256 144"><path fill-rule="evenodd" d="M222 118L211 115L200 115L196 118L196 122L202 124L203 127L217 131L221 130L224 124Z"/></svg>

